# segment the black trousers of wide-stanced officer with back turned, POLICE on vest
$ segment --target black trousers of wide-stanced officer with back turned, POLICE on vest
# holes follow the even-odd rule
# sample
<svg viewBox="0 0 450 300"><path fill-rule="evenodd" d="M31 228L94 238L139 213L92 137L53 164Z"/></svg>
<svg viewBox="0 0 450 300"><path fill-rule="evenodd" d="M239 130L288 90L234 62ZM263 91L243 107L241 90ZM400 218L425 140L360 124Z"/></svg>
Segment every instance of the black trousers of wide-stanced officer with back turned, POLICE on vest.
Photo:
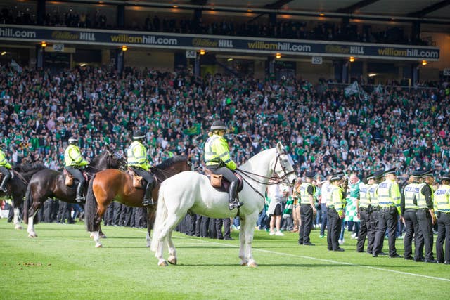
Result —
<svg viewBox="0 0 450 300"><path fill-rule="evenodd" d="M375 235L375 244L373 254L378 254L383 249L386 229L389 233L389 256L397 254L395 240L397 238L397 216L399 215L396 207L383 207L378 216L378 231Z"/></svg>

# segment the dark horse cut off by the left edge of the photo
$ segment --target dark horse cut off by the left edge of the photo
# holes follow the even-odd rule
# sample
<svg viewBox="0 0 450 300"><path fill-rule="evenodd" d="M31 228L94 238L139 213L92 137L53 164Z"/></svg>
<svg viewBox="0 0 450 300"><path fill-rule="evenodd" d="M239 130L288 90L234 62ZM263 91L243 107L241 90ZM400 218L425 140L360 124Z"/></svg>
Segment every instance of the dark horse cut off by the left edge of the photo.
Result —
<svg viewBox="0 0 450 300"><path fill-rule="evenodd" d="M19 208L27 192L27 185L37 171L47 169L44 164L18 164L14 167L13 178L8 181L8 192L0 192L0 199L12 199L14 209L14 227L22 229L19 220Z"/></svg>

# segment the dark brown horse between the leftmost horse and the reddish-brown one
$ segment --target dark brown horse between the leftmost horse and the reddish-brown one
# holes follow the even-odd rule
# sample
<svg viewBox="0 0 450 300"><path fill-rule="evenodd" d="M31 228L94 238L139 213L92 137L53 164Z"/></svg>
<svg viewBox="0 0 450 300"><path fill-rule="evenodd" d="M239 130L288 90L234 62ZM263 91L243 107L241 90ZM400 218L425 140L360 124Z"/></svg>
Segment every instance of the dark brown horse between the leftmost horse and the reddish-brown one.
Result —
<svg viewBox="0 0 450 300"><path fill-rule="evenodd" d="M125 159L117 152L113 152L108 146L105 150L95 157L89 166L86 168L86 173L89 175L88 180L96 174L96 172L108 168L120 168L125 166ZM84 188L86 194L87 184ZM28 236L37 237L34 232L34 223L38 222L36 217L37 211L41 209L44 202L49 198L56 198L58 200L77 203L75 197L77 195L77 184L71 186L65 185L65 176L63 172L45 169L34 174L27 187L24 205L24 221L28 223Z"/></svg>

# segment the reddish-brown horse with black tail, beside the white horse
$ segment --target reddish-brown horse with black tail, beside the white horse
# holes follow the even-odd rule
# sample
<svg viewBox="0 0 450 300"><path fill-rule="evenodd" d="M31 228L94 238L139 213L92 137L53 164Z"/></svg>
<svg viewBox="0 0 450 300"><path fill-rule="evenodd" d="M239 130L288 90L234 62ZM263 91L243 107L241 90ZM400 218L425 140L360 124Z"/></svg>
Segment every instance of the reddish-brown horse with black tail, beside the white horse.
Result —
<svg viewBox="0 0 450 300"><path fill-rule="evenodd" d="M174 156L158 166L151 168L156 177L156 185L152 191L153 200L158 200L160 183L172 175L182 171L191 171L191 162L187 157ZM133 178L126 171L106 169L98 172L89 183L84 207L84 221L87 230L94 232L96 247L102 247L100 242L100 223L111 202L116 201L130 207L143 207L143 188L133 187ZM147 207L147 247L150 247L150 232L155 221L156 205Z"/></svg>

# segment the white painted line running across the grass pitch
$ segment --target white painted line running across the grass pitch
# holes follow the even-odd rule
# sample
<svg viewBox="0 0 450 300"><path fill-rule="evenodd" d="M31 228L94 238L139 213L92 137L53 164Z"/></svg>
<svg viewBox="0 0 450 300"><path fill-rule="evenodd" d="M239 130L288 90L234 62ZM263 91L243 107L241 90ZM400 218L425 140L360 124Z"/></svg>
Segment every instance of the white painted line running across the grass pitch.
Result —
<svg viewBox="0 0 450 300"><path fill-rule="evenodd" d="M180 238L184 239L184 240L195 240L195 241L199 241L200 240L200 239L193 239L191 237L180 237ZM223 244L223 243L220 243L220 242L210 242L210 241L207 241L207 240L200 240L200 241L204 242L204 243L207 243L207 244L219 244L221 246L229 246L229 247L239 248L238 246L235 246L235 245L232 245L232 244ZM399 270L391 270L391 269L387 269L387 268L378 268L378 267L373 267L373 266L361 266L361 265L358 265L356 263L346 263L346 262L343 262L343 261L333 261L331 259L318 259L317 257L297 255L297 254L288 254L288 253L275 252L275 251L265 250L265 249L253 248L253 250L259 251L259 252L266 252L266 253L269 253L269 254L278 254L278 255L283 255L283 256L300 257L302 259L311 259L311 260L314 260L314 261L323 261L323 262L326 262L326 263L336 263L336 264L339 264L339 265L356 266L356 267L368 268L368 269L373 269L373 270L381 270L381 271L384 271L384 272L392 272L392 273L397 273L397 274L411 275L411 276L416 276L416 277L429 278L429 279L435 279L435 280L442 280L442 281L450 282L449 278L441 278L441 277L421 275L421 274L416 274L416 273L401 272Z"/></svg>

